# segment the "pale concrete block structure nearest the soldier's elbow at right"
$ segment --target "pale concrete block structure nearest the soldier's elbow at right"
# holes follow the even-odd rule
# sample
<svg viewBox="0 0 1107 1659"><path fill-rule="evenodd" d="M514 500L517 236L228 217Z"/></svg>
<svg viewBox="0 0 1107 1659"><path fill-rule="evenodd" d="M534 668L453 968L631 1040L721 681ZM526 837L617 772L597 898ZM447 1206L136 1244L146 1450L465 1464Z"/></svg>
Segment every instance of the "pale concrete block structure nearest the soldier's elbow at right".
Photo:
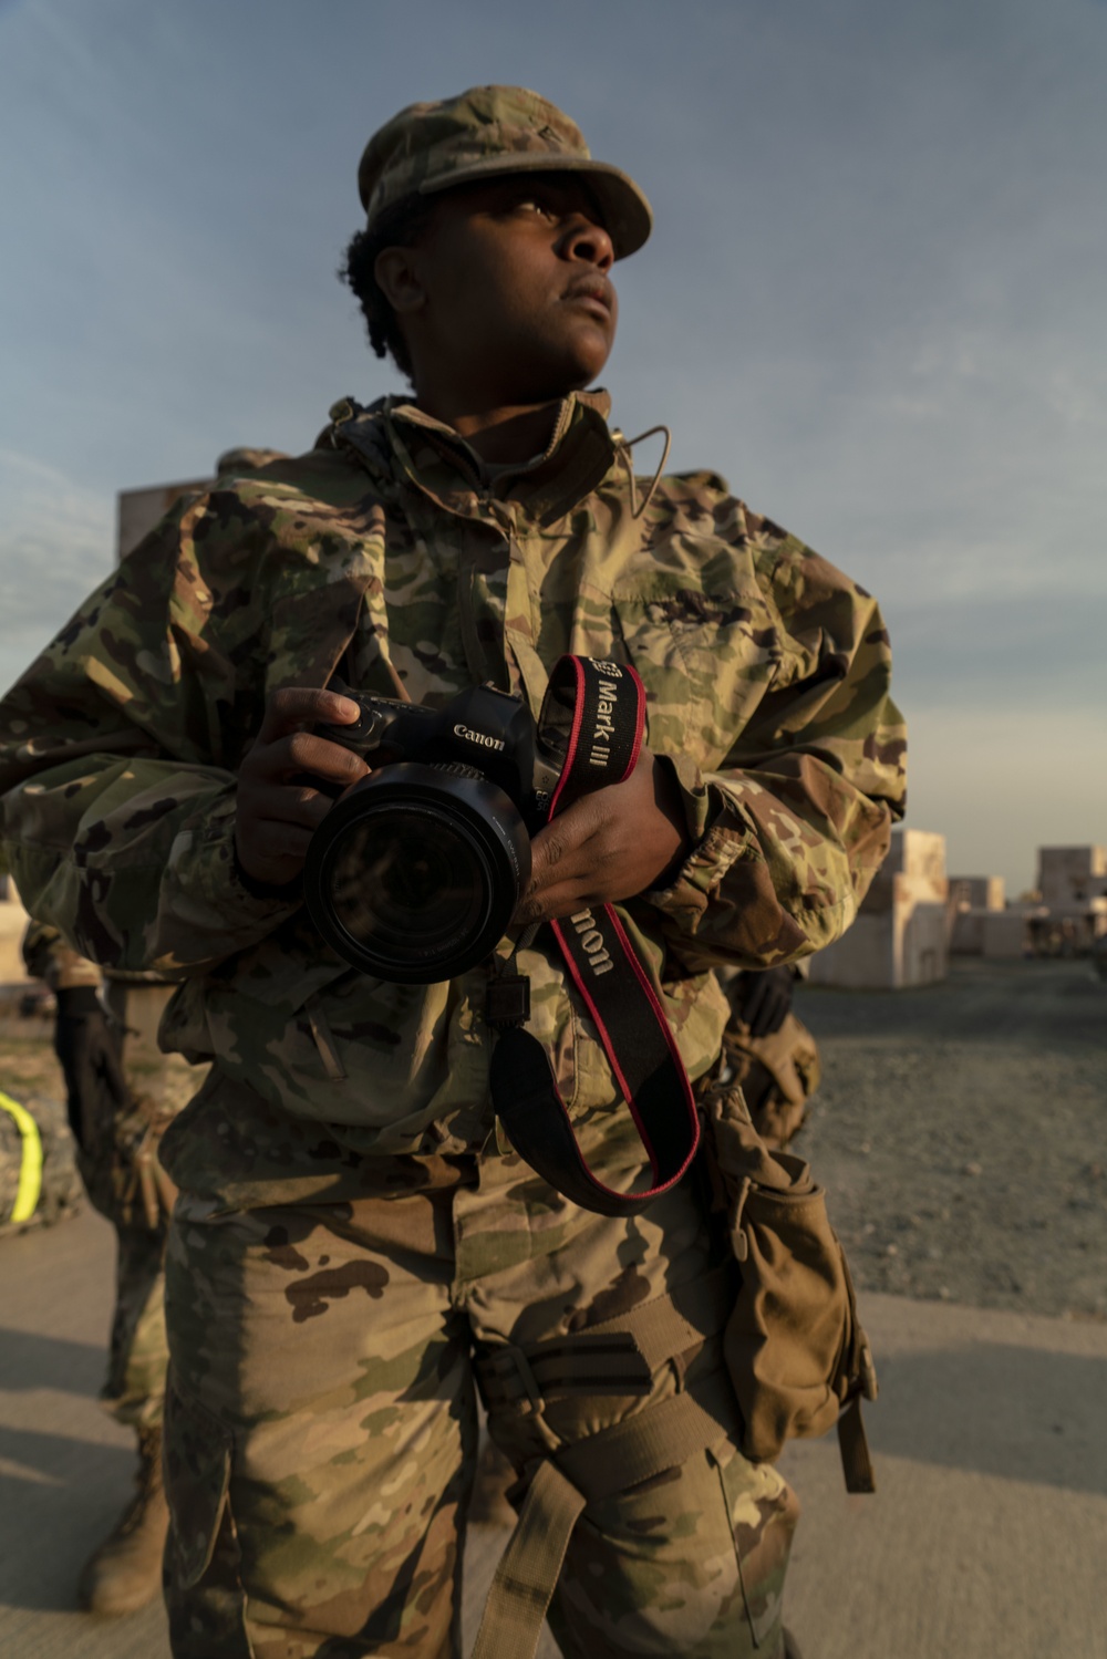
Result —
<svg viewBox="0 0 1107 1659"><path fill-rule="evenodd" d="M813 985L900 990L948 974L946 838L895 830L891 851L853 927L812 957Z"/></svg>

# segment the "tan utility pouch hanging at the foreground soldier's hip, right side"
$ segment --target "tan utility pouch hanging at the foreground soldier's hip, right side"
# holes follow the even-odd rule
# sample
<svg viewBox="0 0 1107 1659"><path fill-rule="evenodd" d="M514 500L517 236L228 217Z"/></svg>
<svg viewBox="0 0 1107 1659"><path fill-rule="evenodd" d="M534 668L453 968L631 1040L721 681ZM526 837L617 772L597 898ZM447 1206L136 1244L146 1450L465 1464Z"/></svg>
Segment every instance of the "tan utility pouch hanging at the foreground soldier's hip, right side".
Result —
<svg viewBox="0 0 1107 1659"><path fill-rule="evenodd" d="M825 1193L802 1158L765 1145L740 1088L714 1085L702 1110L714 1199L742 1269L724 1329L742 1452L772 1462L785 1440L836 1423L846 1488L873 1491L860 1402L876 1399L876 1372Z"/></svg>

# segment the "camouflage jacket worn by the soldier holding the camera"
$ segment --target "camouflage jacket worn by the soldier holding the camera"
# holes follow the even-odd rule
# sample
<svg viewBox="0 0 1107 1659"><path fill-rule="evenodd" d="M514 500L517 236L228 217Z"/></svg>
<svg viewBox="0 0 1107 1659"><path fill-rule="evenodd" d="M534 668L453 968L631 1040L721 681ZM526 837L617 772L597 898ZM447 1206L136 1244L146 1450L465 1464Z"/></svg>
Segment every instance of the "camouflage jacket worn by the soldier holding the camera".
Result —
<svg viewBox="0 0 1107 1659"><path fill-rule="evenodd" d="M717 1057L712 964L763 967L851 922L901 811L905 733L873 599L714 473L649 501L604 393L495 481L400 398L335 405L315 450L178 503L3 702L3 834L28 909L108 969L183 980L163 1042L398 1153L488 1128L486 971L365 979L232 858L236 768L267 693L415 702L493 680L538 712L566 650L632 662L692 851L624 906L689 1072ZM505 951L508 944L505 941ZM579 1117L617 1098L543 934L531 1030Z"/></svg>

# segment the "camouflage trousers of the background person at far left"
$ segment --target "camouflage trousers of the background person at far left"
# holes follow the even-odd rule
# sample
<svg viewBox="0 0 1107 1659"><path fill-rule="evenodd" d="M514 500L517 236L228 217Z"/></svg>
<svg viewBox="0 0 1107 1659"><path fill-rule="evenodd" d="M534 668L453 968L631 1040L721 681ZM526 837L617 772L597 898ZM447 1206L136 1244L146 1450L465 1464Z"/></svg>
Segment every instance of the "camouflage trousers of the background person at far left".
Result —
<svg viewBox="0 0 1107 1659"><path fill-rule="evenodd" d="M100 1392L121 1423L161 1422L169 1347L164 1314L164 1253L171 1190L156 1163L161 1130L188 1105L206 1068L158 1048L158 1024L173 985L111 982L106 1000L124 1027L126 1112L103 1105L85 1125L78 1168L93 1206L116 1233L116 1284L108 1377Z"/></svg>

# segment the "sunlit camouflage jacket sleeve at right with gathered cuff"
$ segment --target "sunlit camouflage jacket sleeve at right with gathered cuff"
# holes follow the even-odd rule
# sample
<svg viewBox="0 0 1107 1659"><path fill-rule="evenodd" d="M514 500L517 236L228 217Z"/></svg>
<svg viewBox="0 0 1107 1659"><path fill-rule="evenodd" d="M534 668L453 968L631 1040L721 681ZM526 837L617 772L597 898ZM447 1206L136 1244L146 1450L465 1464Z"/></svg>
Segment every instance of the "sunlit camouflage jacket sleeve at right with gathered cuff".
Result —
<svg viewBox="0 0 1107 1659"><path fill-rule="evenodd" d="M876 602L768 521L745 513L744 524L778 619L778 665L717 771L667 761L694 846L671 886L647 894L692 971L772 967L831 944L906 801L906 728Z"/></svg>

